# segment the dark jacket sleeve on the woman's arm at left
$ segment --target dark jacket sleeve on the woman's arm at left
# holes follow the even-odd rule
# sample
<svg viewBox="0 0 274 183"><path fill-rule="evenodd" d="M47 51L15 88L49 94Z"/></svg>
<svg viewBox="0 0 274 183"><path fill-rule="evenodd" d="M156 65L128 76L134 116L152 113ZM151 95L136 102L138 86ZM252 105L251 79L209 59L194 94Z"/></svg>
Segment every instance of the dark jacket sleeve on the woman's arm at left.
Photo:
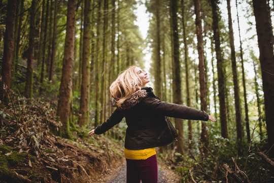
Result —
<svg viewBox="0 0 274 183"><path fill-rule="evenodd" d="M101 125L95 128L94 133L97 135L100 135L107 132L112 127L120 123L123 117L124 116L122 115L120 110L118 108L115 109L114 112L111 114L111 116L104 123L102 123Z"/></svg>

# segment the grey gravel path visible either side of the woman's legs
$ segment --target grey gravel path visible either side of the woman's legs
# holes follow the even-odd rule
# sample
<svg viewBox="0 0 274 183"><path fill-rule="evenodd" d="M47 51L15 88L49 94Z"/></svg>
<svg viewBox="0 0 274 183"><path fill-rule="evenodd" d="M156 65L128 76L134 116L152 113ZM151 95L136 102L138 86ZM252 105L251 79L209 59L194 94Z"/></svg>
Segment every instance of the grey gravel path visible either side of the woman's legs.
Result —
<svg viewBox="0 0 274 183"><path fill-rule="evenodd" d="M180 177L173 170L158 165L158 183L179 182ZM123 166L106 183L126 183L126 166Z"/></svg>

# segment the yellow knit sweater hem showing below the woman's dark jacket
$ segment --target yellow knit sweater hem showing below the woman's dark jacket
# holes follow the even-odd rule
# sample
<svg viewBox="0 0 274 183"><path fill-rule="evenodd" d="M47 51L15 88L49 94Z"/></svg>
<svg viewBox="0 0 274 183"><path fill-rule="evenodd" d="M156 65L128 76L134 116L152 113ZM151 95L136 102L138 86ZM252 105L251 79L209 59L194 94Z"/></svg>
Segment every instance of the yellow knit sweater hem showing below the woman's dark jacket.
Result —
<svg viewBox="0 0 274 183"><path fill-rule="evenodd" d="M130 150L124 149L125 158L129 160L146 160L149 157L156 155L155 147L140 149L140 150Z"/></svg>

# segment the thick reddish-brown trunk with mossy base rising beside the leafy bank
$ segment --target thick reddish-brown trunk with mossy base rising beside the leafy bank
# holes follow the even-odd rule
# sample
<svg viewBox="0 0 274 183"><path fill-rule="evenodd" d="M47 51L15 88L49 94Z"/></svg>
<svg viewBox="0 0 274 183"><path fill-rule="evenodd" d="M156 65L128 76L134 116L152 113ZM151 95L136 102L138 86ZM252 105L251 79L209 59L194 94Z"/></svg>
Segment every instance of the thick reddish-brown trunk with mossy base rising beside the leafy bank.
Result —
<svg viewBox="0 0 274 183"><path fill-rule="evenodd" d="M70 132L70 104L72 99L72 66L74 60L76 0L67 2L66 34L61 83L59 88L57 116L62 123L60 135L72 139Z"/></svg>

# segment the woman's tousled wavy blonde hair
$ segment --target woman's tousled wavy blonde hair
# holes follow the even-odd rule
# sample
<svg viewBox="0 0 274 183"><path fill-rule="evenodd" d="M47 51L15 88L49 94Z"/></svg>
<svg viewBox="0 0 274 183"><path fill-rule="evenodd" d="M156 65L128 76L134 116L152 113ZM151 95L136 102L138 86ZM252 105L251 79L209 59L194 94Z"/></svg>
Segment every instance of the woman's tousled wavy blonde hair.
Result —
<svg viewBox="0 0 274 183"><path fill-rule="evenodd" d="M117 107L137 90L141 89L142 80L135 72L136 66L130 66L121 72L110 86L111 97L117 102Z"/></svg>

